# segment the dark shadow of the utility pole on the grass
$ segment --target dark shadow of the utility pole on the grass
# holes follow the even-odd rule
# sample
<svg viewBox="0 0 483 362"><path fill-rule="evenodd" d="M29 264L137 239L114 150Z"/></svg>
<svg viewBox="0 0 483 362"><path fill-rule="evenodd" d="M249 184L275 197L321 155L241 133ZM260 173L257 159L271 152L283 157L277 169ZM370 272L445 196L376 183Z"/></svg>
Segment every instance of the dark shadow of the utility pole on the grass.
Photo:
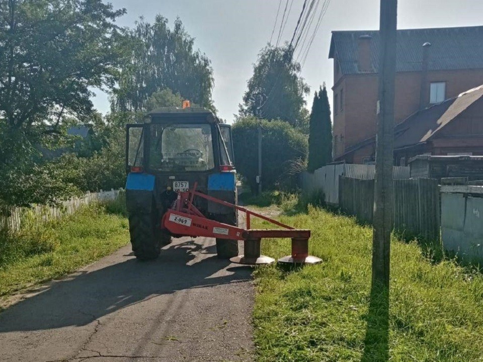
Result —
<svg viewBox="0 0 483 362"><path fill-rule="evenodd" d="M361 362L389 360L389 290L372 285Z"/></svg>

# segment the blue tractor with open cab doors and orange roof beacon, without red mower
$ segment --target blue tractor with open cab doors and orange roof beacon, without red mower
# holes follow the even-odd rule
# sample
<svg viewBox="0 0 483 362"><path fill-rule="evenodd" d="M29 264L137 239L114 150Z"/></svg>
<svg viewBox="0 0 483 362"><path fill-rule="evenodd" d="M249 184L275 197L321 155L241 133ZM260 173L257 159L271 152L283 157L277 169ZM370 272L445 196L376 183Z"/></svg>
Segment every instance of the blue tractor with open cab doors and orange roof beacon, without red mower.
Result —
<svg viewBox="0 0 483 362"><path fill-rule="evenodd" d="M176 237L161 220L178 194L195 184L200 193L236 204L231 127L211 111L162 108L126 131L126 204L137 258L157 257L160 246ZM237 224L233 209L202 198L194 202L207 218ZM237 255L236 241L217 239L217 253Z"/></svg>

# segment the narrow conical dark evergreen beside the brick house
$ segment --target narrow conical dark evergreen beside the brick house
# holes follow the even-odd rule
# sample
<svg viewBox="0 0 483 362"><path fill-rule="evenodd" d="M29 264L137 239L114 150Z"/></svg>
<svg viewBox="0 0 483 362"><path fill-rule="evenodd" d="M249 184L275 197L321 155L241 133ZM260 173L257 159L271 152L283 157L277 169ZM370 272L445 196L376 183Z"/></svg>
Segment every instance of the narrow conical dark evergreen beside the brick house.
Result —
<svg viewBox="0 0 483 362"><path fill-rule="evenodd" d="M308 164L309 172L325 166L332 161L332 122L331 106L327 96L327 88L320 87L315 92L310 113L308 135Z"/></svg>

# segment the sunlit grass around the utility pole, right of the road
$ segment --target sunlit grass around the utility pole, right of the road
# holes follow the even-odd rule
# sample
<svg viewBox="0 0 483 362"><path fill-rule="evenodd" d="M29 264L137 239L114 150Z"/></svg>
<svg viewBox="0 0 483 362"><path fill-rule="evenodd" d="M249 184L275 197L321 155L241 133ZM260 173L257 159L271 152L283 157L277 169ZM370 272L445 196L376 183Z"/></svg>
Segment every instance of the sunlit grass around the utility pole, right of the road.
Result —
<svg viewBox="0 0 483 362"><path fill-rule="evenodd" d="M259 362L483 360L480 274L393 238L387 308L384 296L371 298L369 227L311 207L281 219L311 229L310 253L324 262L256 270ZM266 239L262 252L288 255L290 242Z"/></svg>

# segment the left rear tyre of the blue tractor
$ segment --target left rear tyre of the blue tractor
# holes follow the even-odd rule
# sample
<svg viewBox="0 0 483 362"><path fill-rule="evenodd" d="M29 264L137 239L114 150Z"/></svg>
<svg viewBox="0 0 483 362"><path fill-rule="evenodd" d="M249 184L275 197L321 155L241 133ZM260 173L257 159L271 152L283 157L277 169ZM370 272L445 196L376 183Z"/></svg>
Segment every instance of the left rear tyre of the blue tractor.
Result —
<svg viewBox="0 0 483 362"><path fill-rule="evenodd" d="M161 230L156 226L156 212L129 215L132 251L138 260L153 260L161 252Z"/></svg>

